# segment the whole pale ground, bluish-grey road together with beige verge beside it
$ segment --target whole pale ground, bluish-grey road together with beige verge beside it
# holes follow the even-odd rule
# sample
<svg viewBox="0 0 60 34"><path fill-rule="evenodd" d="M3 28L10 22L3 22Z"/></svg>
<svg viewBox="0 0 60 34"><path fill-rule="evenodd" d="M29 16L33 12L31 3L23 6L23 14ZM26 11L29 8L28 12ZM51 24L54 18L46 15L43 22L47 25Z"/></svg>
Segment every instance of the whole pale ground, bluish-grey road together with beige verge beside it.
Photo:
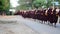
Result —
<svg viewBox="0 0 60 34"><path fill-rule="evenodd" d="M41 24L33 19L26 19L21 16L15 16L17 23L0 24L0 33L14 34L60 34L60 24L57 27L52 27L46 24Z"/></svg>

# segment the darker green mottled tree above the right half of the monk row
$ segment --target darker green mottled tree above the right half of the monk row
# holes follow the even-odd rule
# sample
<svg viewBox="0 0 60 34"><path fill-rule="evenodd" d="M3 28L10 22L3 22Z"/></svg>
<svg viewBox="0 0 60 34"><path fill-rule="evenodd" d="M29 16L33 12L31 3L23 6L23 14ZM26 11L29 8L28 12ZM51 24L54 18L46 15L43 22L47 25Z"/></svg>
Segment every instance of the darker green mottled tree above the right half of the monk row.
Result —
<svg viewBox="0 0 60 34"><path fill-rule="evenodd" d="M45 6L46 8L50 7L53 5L52 0L34 0L33 5L35 8L39 8L42 6Z"/></svg>

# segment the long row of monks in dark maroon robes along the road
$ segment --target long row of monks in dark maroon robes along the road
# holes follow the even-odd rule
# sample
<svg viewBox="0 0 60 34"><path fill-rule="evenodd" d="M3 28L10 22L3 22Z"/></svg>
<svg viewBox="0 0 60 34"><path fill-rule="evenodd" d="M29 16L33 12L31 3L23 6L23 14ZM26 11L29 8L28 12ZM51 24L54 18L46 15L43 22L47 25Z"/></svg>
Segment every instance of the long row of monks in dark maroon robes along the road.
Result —
<svg viewBox="0 0 60 34"><path fill-rule="evenodd" d="M50 24L56 27L58 16L60 16L60 10L57 8L41 9L41 10L29 10L29 11L18 11L15 15L22 15L24 18L38 19L40 21L49 21Z"/></svg>

